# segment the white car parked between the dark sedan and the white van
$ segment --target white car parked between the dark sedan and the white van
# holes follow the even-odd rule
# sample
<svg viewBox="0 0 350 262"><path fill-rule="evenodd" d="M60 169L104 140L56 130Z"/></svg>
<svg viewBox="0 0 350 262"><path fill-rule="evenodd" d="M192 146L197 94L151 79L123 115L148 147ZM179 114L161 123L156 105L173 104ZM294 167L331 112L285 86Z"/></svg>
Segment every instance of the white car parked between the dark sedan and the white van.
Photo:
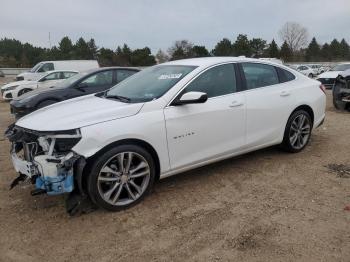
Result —
<svg viewBox="0 0 350 262"><path fill-rule="evenodd" d="M77 71L48 71L38 80L22 80L6 84L1 87L1 95L4 100L12 100L35 89L53 87L59 82L76 75Z"/></svg>

